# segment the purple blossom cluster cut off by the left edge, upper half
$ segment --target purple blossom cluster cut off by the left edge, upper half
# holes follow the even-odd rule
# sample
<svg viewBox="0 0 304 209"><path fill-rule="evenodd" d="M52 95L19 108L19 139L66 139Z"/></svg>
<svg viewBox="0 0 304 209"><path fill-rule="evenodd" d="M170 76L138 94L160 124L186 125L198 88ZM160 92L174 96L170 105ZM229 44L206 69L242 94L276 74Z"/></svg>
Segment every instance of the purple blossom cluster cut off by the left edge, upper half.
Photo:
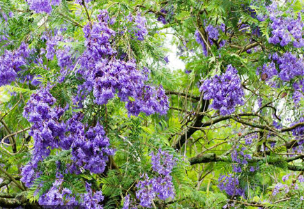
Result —
<svg viewBox="0 0 304 209"><path fill-rule="evenodd" d="M15 81L17 72L20 72L22 66L26 65L26 58L29 57L29 54L30 51L27 45L22 42L15 51L6 51L0 56L0 86Z"/></svg>

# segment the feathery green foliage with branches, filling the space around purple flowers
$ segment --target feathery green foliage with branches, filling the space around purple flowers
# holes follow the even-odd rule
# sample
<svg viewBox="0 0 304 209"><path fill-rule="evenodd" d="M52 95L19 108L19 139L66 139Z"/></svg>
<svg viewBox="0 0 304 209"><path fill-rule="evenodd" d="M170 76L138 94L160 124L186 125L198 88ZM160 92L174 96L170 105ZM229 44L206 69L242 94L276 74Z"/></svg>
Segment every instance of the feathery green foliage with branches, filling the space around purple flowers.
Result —
<svg viewBox="0 0 304 209"><path fill-rule="evenodd" d="M37 64L36 59L31 61L20 71L22 79L0 87L0 139L31 127L23 118L22 112L30 96L41 87L33 86L26 75L39 75L41 86L53 84L51 93L56 98L56 105L66 107L65 114L59 121L68 121L73 113L80 112L84 115L82 123L87 124L85 130L99 122L105 127L111 148L116 150L104 173L97 175L83 171L76 175L66 172L71 162L71 150L52 149L50 156L45 157L38 165L39 178L30 188L26 188L28 201L38 201L52 187L56 173L61 172L65 178L63 186L77 196L86 192L84 185L89 182L93 185L94 192L102 190L105 196L102 201L104 208L121 208L127 194L132 199L137 199L136 185L142 180L141 176L144 173L153 173L151 153L161 148L176 159L176 166L172 171L176 196L166 201L156 198L155 204L158 208L222 208L229 200L235 201L237 208L253 208L254 204L262 204L264 208L303 208L303 201L298 201L304 192L303 184L297 180L301 173L289 170L291 166L294 166L293 169L303 170L303 154L293 149L298 144L287 148L291 140L298 139L292 132L284 130L303 116L303 100L298 106L292 102L293 84L303 78L296 77L290 82L282 82L277 77L264 80L257 72L271 61L269 54L291 51L303 56L303 49L294 49L289 45L282 47L268 42L271 37L271 20L266 18L259 21L253 13L268 14L266 6L270 3L268 0L109 0L91 1L84 8L74 1L62 0L60 6L55 6L50 15L45 15L29 10L26 1L1 0L0 38L7 35L7 40L0 39L0 55L6 50L13 51L21 42L26 42L31 49L36 50L33 54L41 58L42 64ZM280 6L285 16L289 15L290 8L303 16L302 1L292 1ZM117 57L126 54L125 60L135 59L138 70L149 68L151 75L147 83L161 84L165 88L170 103L170 109L165 116L128 116L126 103L118 96L109 100L106 105L98 105L93 102L93 93L87 95L84 107L77 109L73 99L78 93L78 86L84 83L77 74L79 63L75 63L74 69L68 70L64 82L58 82L61 72L66 69L61 69L57 64L59 57L54 56L53 60L48 60L42 55L42 49L46 47L43 36L50 36L56 30L64 28L63 36L69 41L59 42L56 50L69 47L69 54L78 59L86 49L83 27L89 18L96 21L100 9L107 9L109 16L118 20L110 26L117 32L116 38L111 39L117 49ZM164 10L167 24L157 20ZM4 15L8 16L10 11L13 11L14 16L6 22L3 20ZM141 13L146 17L149 34L144 41L138 41L130 33L132 24L126 18L129 13ZM225 31L220 31L220 40L225 40L226 45L208 45L206 57L202 53L202 45L195 40L195 31L199 29L203 34L206 33L208 24L225 24ZM257 30L261 36L255 34ZM205 38L210 43L208 37ZM258 43L256 47L250 49L251 51L245 50L254 42ZM176 59L183 61L185 69L178 66L172 70L175 59L165 63L164 57L168 54L171 57L174 53ZM210 104L206 111L199 111L202 110L202 104L206 105L202 102L204 93L199 92L199 86L204 79L224 73L229 64L238 70L241 77L245 89L245 105L236 107L233 116L227 118L211 109ZM199 123L197 118L200 118ZM283 130L276 128L273 122L280 123ZM250 134L257 134L257 137L246 145L245 140ZM176 150L176 141L183 137L185 143ZM13 152L13 146L4 144L10 143L8 141L12 139L16 144L17 154L10 153ZM0 161L3 168L20 182L20 171L31 160L33 137L29 136L29 132L19 132L12 139L2 142ZM239 165L234 162L231 153L242 147L246 147L243 153L250 155L252 159ZM192 157L211 154L214 157L210 162L189 163ZM294 155L300 157L293 160ZM60 168L56 167L58 162L61 163ZM242 171L237 173L234 166L240 166ZM251 167L254 171L250 171ZM282 177L291 172L296 174L283 182ZM238 186L244 189L244 196L229 196L227 192L220 190L218 178L228 173L238 177ZM6 179L8 176L0 173L0 178ZM273 189L278 183L292 189L287 194L281 189L277 195L273 195ZM296 183L299 189L294 189ZM2 188L7 193L20 192L13 183Z"/></svg>

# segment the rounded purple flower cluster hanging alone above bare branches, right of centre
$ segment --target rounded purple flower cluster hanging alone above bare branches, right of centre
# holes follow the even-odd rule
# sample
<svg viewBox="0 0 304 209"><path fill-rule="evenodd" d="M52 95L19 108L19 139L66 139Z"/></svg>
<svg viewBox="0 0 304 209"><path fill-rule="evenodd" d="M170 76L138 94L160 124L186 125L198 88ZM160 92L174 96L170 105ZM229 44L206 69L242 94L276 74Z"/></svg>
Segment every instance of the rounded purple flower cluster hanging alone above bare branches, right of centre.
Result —
<svg viewBox="0 0 304 209"><path fill-rule="evenodd" d="M244 92L237 73L236 68L228 65L223 75L206 79L199 88L204 91L204 100L213 100L211 107L220 110L223 116L232 114L237 104L244 104Z"/></svg>

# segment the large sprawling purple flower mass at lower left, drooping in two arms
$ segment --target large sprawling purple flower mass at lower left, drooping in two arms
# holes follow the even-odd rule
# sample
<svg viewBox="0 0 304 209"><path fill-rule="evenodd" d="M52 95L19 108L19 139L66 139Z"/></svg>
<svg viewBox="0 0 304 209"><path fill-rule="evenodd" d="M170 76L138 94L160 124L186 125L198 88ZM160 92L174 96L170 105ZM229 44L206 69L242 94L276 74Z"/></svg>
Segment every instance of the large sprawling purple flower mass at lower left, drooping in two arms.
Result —
<svg viewBox="0 0 304 209"><path fill-rule="evenodd" d="M24 118L33 123L29 135L34 139L34 150L33 159L22 169L22 181L27 186L33 183L36 178L34 169L38 167L38 162L50 155L53 148L72 148L73 163L70 165L70 172L79 173L82 168L92 173L102 173L108 155L114 155L103 127L98 123L84 132L84 125L80 122L82 116L79 114L75 114L66 123L59 122L64 110L53 107L56 99L49 91L50 86L41 88L31 95L24 107Z"/></svg>

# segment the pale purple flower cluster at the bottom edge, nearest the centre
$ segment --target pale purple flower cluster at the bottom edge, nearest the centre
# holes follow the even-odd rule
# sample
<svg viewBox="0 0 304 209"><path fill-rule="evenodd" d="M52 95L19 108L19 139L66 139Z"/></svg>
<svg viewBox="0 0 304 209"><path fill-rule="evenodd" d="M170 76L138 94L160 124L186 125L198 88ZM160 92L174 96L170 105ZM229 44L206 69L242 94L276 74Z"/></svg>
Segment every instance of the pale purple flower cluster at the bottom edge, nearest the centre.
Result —
<svg viewBox="0 0 304 209"><path fill-rule="evenodd" d="M137 183L139 190L136 192L136 197L139 199L140 205L148 208L151 207L152 201L156 196L162 200L169 197L174 198L175 196L172 176L170 176L175 165L173 155L169 155L169 153L160 149L156 155L152 153L151 157L152 169L158 173L158 176L149 178L147 174L144 175L145 180Z"/></svg>

